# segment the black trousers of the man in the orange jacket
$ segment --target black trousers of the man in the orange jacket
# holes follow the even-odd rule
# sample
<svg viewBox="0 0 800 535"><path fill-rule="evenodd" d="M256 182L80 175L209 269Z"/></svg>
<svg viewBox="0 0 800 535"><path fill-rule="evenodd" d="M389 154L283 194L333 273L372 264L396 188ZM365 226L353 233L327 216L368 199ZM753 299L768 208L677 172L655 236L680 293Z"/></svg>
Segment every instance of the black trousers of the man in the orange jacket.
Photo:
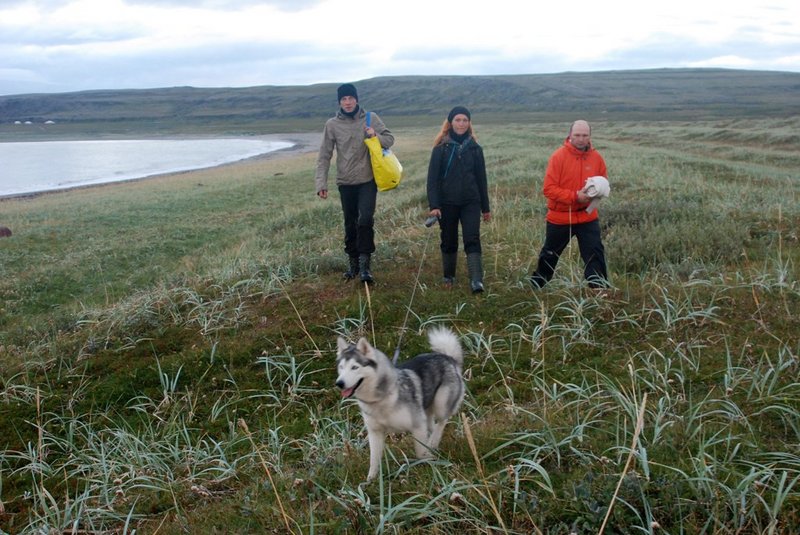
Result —
<svg viewBox="0 0 800 535"><path fill-rule="evenodd" d="M555 225L548 222L544 246L539 253L539 263L531 276L531 283L541 288L553 278L558 259L573 236L578 238L578 248L585 264L583 275L589 281L589 287L608 286L605 249L600 240L600 223L597 220L580 225Z"/></svg>

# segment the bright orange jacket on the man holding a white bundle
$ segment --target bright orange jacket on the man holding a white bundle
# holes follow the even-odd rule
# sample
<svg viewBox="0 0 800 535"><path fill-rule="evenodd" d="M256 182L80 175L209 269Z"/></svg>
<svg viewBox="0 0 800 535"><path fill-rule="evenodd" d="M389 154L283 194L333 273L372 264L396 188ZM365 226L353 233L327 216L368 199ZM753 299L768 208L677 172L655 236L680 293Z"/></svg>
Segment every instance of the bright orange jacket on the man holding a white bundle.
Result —
<svg viewBox="0 0 800 535"><path fill-rule="evenodd" d="M569 141L550 156L542 191L547 197L547 221L556 225L576 225L597 219L597 210L586 213L588 203L578 203L577 192L593 176L607 176L606 162L592 145L581 151Z"/></svg>

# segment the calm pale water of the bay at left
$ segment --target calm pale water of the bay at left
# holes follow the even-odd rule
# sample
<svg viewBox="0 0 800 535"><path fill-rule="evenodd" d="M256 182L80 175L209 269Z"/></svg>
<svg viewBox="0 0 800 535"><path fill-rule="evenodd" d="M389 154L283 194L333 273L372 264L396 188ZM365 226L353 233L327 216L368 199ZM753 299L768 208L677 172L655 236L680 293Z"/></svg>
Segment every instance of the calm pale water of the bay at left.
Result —
<svg viewBox="0 0 800 535"><path fill-rule="evenodd" d="M292 145L259 139L0 143L0 196L213 167Z"/></svg>

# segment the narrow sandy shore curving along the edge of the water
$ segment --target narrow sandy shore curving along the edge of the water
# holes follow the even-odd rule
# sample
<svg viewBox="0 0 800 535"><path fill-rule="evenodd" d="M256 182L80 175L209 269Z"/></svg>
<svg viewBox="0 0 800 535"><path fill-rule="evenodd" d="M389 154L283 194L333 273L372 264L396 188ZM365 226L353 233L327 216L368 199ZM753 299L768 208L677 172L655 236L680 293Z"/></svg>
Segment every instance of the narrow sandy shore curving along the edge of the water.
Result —
<svg viewBox="0 0 800 535"><path fill-rule="evenodd" d="M250 136L248 136L249 138ZM172 172L165 172L165 173L156 173L141 177L135 178L125 178L122 180L115 180L109 182L102 182L97 184L81 184L71 187L62 187L62 188L54 188L54 189L47 189L41 191L31 191L31 192L24 192L24 193L11 193L11 194L0 194L0 202L7 202L13 201L17 199L31 199L35 197L40 197L42 195L50 195L53 193L63 193L65 191L72 191L72 190L79 190L79 189L86 189L86 188L102 188L102 187L113 187L115 185L123 184L123 183L131 183L136 181L142 180L150 180L155 178L165 179L171 176L182 176L187 173L193 173L199 171L201 169L212 169L212 168L224 168L232 165L237 165L245 161L258 161L258 160L272 160L272 159L280 159L280 158L288 158L292 156L296 156L299 154L306 154L309 152L316 152L319 150L319 145L322 140L322 133L321 132L296 132L290 134L264 134L260 136L252 136L254 139L260 139L264 141L271 141L271 142L287 142L292 143L292 146L286 147L283 149L278 149L275 151L265 152L263 154L258 154L256 156L251 156L249 158L243 158L241 160L237 160L234 162L228 162L221 165L210 166L210 167L197 167L194 169L187 169L184 171L172 171ZM186 138L171 138L171 139L186 139ZM198 138L203 139L203 138Z"/></svg>

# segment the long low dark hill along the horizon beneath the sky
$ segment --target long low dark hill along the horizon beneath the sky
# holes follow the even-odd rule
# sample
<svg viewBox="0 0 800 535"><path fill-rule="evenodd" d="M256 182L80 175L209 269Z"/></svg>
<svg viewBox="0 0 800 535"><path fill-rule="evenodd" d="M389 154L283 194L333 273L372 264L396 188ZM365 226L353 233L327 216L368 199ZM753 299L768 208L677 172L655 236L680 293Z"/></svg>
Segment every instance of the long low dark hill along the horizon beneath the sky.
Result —
<svg viewBox="0 0 800 535"><path fill-rule="evenodd" d="M800 73L657 69L513 76L397 76L355 82L385 116L443 117L454 104L486 114L702 118L800 114ZM0 123L253 124L336 109L337 84L172 87L0 96Z"/></svg>

